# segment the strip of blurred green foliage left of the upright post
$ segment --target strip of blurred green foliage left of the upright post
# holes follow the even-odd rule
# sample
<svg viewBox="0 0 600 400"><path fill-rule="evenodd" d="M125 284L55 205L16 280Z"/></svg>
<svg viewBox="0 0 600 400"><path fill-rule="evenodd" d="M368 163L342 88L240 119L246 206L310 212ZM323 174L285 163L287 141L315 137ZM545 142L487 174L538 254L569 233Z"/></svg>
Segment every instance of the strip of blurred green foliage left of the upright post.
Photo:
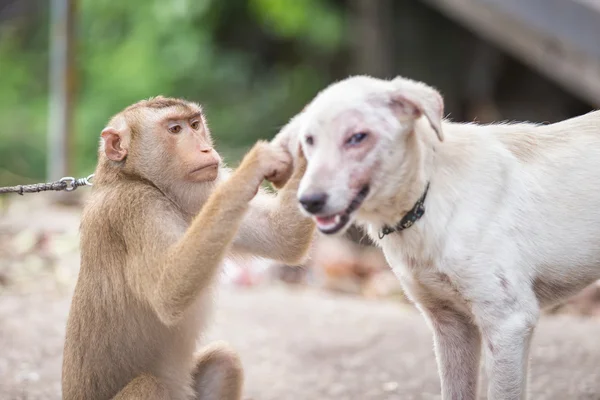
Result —
<svg viewBox="0 0 600 400"><path fill-rule="evenodd" d="M0 7L0 184L44 176L47 13L36 0Z"/></svg>

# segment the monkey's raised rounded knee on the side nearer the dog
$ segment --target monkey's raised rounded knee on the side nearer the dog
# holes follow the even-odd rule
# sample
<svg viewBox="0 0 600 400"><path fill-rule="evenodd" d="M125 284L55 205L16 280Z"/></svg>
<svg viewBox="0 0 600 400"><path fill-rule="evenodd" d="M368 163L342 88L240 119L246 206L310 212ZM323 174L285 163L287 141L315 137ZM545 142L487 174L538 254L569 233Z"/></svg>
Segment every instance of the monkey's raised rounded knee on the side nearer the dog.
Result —
<svg viewBox="0 0 600 400"><path fill-rule="evenodd" d="M237 353L223 342L212 343L196 356L192 373L196 400L240 400L244 370Z"/></svg>

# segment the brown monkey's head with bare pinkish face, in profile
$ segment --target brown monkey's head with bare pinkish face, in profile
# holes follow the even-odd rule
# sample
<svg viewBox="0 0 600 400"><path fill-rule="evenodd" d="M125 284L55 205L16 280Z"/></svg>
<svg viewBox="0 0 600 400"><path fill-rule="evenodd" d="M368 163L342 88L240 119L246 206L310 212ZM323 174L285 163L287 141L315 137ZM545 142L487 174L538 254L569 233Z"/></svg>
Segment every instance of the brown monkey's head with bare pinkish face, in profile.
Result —
<svg viewBox="0 0 600 400"><path fill-rule="evenodd" d="M190 191L210 192L221 164L202 107L157 96L125 108L102 130L95 184L144 180L189 198ZM182 188L188 193L173 193Z"/></svg>

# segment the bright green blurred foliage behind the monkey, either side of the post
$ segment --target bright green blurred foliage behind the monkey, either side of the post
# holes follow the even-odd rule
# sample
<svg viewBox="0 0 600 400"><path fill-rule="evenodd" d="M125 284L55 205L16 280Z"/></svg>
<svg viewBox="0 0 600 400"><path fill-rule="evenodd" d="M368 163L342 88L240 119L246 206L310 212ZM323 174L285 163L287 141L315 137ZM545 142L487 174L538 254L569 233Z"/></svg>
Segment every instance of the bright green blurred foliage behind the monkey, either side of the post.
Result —
<svg viewBox="0 0 600 400"><path fill-rule="evenodd" d="M328 0L79 0L78 8L77 174L93 169L111 115L158 94L202 103L235 163L331 79L327 66L344 45L342 11ZM0 185L45 175L48 15L28 18L36 40L18 39L22 20L0 30Z"/></svg>

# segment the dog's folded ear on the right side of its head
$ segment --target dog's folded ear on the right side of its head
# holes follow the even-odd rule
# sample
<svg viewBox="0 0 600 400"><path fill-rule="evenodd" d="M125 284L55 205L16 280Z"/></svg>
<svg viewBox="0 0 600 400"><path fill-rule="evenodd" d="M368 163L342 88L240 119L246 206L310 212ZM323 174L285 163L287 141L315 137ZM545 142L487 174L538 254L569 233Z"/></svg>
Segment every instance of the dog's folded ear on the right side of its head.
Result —
<svg viewBox="0 0 600 400"><path fill-rule="evenodd" d="M396 112L414 118L425 115L440 142L443 141L444 100L440 93L422 82L402 77L393 79L390 84L392 107Z"/></svg>

